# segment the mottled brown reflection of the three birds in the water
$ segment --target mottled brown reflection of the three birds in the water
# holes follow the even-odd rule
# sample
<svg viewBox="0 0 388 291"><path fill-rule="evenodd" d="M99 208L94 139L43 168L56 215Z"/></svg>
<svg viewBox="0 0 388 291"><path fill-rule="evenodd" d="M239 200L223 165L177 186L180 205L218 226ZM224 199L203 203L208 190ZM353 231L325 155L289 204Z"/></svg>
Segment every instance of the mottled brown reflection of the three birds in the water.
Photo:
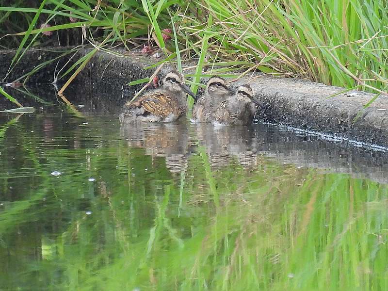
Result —
<svg viewBox="0 0 388 291"><path fill-rule="evenodd" d="M258 165L258 139L254 126L214 127L211 124L122 124L122 137L130 147L144 148L146 155L164 157L171 173L186 171L188 158L205 149L212 170L231 162L253 170Z"/></svg>

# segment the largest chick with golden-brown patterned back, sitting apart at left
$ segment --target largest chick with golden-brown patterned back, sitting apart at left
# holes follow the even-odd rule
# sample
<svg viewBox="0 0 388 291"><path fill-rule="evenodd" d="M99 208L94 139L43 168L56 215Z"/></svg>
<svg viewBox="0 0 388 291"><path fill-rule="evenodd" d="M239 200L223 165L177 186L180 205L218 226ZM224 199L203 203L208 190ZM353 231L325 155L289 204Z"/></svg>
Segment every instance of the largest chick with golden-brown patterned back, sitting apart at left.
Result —
<svg viewBox="0 0 388 291"><path fill-rule="evenodd" d="M186 94L196 100L183 75L171 70L163 78L160 88L149 90L123 106L120 123L175 121L187 111Z"/></svg>

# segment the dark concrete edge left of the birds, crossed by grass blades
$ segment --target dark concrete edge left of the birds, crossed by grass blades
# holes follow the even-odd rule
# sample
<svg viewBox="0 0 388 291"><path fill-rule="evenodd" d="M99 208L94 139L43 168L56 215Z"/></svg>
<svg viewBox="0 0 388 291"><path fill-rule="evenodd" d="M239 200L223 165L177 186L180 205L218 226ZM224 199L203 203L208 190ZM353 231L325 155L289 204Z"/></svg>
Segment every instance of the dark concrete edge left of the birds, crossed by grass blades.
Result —
<svg viewBox="0 0 388 291"><path fill-rule="evenodd" d="M82 49L73 58L71 58L73 53L61 57L64 51L64 49L31 49L25 53L15 69L3 81L15 51L0 50L0 82L15 81L30 72L37 65L58 58L28 78L29 84L50 84L61 69L61 74L65 73L71 65L90 52L91 49ZM128 86L127 84L130 81L145 78L147 75L152 74L152 70L145 71L144 68L154 63L142 56L126 56L124 55L126 53L124 50L116 50L116 52L123 55L115 56L104 52L97 52L78 74L77 78L74 79L72 87L69 87L69 89L77 91L81 89L91 95L96 92L100 94L107 93L112 94L114 98L119 98L119 95L133 94L141 85ZM58 81L58 88L61 88L64 81L67 81L72 73L68 74L63 80Z"/></svg>

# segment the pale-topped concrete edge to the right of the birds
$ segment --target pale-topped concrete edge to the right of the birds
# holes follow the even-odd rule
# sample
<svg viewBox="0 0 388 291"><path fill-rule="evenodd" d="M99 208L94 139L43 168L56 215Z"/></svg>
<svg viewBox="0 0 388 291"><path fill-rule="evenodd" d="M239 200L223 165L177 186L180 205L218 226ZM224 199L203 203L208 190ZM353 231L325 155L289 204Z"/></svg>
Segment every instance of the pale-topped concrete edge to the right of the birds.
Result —
<svg viewBox="0 0 388 291"><path fill-rule="evenodd" d="M243 81L241 81L243 82ZM251 81L266 105L259 116L272 123L335 134L357 141L388 146L388 96L287 78L259 77Z"/></svg>

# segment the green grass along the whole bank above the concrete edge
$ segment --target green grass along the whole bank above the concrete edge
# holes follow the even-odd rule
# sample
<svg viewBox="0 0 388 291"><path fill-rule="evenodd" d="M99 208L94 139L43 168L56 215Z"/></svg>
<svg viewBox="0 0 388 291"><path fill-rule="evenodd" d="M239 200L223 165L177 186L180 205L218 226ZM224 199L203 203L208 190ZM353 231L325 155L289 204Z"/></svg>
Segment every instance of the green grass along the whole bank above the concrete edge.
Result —
<svg viewBox="0 0 388 291"><path fill-rule="evenodd" d="M159 46L166 61L178 57L178 66L196 58L193 89L203 68L210 67L210 74L245 68L245 73L262 71L387 94L388 4L384 0L27 3L20 0L13 7L0 7L0 31L11 34L0 45L17 48L10 69L26 48L57 45L57 39L79 44L73 36L83 26L84 37L100 49L116 44L142 47L147 42ZM51 27L40 29L41 23ZM163 39L166 28L174 28L171 41ZM41 35L48 31L54 33L51 38Z"/></svg>

